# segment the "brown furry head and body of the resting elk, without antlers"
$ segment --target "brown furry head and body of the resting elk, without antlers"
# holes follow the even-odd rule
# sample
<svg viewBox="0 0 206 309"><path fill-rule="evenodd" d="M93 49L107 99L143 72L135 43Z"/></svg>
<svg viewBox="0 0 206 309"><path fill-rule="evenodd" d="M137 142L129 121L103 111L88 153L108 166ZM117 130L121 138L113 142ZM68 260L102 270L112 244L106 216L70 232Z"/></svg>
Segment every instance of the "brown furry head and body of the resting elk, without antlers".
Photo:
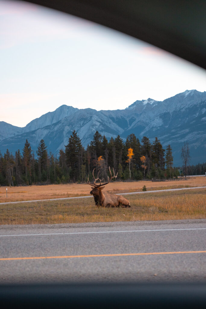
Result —
<svg viewBox="0 0 206 309"><path fill-rule="evenodd" d="M93 194L95 204L101 207L131 207L129 201L122 195L102 193L104 187L92 187L90 194Z"/></svg>

